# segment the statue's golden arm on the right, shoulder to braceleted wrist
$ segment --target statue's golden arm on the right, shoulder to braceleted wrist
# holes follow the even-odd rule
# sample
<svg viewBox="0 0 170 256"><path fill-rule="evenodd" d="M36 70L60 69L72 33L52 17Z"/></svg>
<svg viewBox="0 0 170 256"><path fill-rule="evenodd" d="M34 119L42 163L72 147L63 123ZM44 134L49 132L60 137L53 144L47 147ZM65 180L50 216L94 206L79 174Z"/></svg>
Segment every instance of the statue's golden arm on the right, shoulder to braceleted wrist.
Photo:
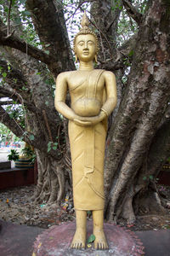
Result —
<svg viewBox="0 0 170 256"><path fill-rule="evenodd" d="M114 73L111 73L110 71L106 71L104 75L107 99L101 110L103 110L105 114L109 116L116 107L116 77Z"/></svg>

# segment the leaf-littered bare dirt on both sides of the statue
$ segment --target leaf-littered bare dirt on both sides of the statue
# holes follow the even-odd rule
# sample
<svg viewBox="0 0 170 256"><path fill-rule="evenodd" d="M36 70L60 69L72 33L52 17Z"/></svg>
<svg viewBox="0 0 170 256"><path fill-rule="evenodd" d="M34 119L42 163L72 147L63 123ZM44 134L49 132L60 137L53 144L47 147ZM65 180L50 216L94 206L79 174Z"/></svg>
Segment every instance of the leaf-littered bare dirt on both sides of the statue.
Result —
<svg viewBox="0 0 170 256"><path fill-rule="evenodd" d="M49 228L52 225L58 225L66 221L75 219L72 202L69 200L69 210L65 210L65 206L57 204L35 205L31 201L31 196L36 189L35 185L25 186L14 189L6 189L0 191L0 219L9 221L14 224L26 224L41 228ZM170 187L160 186L170 201ZM64 204L67 201L64 202ZM68 208L67 208L68 209ZM170 229L170 209L167 209L163 215L144 214L137 216L137 220L133 225L127 225L122 219L118 224L127 226L133 231L143 230L168 230Z"/></svg>

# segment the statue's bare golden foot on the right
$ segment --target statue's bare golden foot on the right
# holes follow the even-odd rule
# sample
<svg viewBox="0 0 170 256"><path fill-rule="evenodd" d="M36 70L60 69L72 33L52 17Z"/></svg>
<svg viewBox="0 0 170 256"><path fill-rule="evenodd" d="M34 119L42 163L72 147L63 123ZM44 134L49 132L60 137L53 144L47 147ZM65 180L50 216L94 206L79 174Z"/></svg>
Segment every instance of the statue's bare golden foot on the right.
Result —
<svg viewBox="0 0 170 256"><path fill-rule="evenodd" d="M105 238L104 230L94 230L94 248L97 250L105 250L108 249L108 243Z"/></svg>

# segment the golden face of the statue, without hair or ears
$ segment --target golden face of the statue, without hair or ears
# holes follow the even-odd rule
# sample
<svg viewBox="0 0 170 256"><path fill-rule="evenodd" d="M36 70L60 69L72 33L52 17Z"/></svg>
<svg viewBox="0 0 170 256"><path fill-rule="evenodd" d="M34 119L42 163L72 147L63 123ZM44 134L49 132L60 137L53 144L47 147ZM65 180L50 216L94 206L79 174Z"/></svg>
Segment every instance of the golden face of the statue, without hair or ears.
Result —
<svg viewBox="0 0 170 256"><path fill-rule="evenodd" d="M95 38L91 34L78 35L75 44L75 54L79 61L94 61L96 54Z"/></svg>

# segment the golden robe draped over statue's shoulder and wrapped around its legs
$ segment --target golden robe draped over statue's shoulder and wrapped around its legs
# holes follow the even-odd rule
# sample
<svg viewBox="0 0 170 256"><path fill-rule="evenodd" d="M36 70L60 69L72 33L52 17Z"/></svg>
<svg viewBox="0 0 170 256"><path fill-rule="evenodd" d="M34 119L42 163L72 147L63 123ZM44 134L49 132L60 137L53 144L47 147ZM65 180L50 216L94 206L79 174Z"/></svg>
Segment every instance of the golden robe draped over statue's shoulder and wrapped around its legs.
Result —
<svg viewBox="0 0 170 256"><path fill-rule="evenodd" d="M86 97L94 97L98 80L104 70L94 70L94 83L86 80ZM83 86L83 83L79 86ZM78 86L72 90L78 90ZM103 102L105 102L105 88ZM104 209L104 158L107 119L97 125L81 126L69 120L73 200L77 210Z"/></svg>

